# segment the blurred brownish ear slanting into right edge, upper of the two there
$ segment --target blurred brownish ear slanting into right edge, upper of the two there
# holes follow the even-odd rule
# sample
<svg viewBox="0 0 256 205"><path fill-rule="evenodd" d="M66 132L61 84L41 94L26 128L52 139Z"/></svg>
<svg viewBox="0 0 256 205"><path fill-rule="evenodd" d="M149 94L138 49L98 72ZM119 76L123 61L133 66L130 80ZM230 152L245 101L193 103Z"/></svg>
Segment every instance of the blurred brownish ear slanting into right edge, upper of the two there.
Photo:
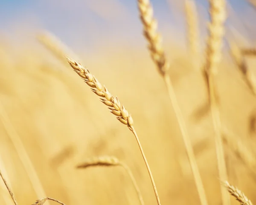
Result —
<svg viewBox="0 0 256 205"><path fill-rule="evenodd" d="M255 75L248 69L248 66L246 64L244 55L253 55L252 51L250 49L247 50L241 50L236 45L236 43L231 42L229 43L231 54L241 72L241 74L244 77L244 81L246 82L247 86L249 87L250 91L253 93L253 95L256 95L256 78Z"/></svg>

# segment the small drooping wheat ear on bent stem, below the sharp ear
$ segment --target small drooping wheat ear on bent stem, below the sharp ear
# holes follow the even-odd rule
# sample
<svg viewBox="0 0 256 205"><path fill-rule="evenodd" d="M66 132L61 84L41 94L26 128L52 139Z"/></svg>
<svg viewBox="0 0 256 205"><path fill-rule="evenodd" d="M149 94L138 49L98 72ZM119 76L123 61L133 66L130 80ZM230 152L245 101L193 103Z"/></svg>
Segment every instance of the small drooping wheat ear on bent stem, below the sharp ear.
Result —
<svg viewBox="0 0 256 205"><path fill-rule="evenodd" d="M140 200L140 204L144 205L143 197L140 192L140 188L136 182L136 179L134 178L133 173L131 172L131 169L123 162L120 162L116 157L113 156L100 156L100 157L94 157L93 159L89 159L83 164L77 166L77 168L87 168L91 166L121 166L125 169L125 171L128 173L132 184L134 185L134 189L137 192L138 198Z"/></svg>

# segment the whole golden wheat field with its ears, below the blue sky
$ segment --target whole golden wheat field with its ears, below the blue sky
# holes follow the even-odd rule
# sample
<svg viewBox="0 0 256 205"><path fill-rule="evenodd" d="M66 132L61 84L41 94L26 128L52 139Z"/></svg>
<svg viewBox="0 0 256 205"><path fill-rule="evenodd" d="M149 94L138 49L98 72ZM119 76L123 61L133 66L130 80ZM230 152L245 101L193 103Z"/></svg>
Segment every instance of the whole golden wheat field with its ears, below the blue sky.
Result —
<svg viewBox="0 0 256 205"><path fill-rule="evenodd" d="M162 205L256 201L253 40L239 32L229 1L182 2L169 0L183 17L182 37L162 29L148 0L137 1L137 44L106 36L84 52L70 43L54 50L66 43L44 39L54 35L44 27L40 35L21 29L17 39L0 33L0 170L19 205L43 197L65 205L157 204L154 182ZM2 181L0 188L0 205L13 204Z"/></svg>

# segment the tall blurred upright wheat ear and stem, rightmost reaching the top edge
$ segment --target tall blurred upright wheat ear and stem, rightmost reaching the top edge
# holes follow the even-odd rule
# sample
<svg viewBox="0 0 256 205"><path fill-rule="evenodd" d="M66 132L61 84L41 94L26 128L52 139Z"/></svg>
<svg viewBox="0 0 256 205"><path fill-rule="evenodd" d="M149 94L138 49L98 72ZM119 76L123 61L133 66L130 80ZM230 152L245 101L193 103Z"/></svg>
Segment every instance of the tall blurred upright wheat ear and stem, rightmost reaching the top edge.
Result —
<svg viewBox="0 0 256 205"><path fill-rule="evenodd" d="M210 23L208 26L209 36L207 39L206 64L204 74L207 81L209 102L212 113L212 121L215 132L215 147L218 162L218 172L221 181L227 179L227 169L224 157L224 148L221 139L221 118L218 107L218 98L215 87L215 75L221 61L222 44L224 37L224 22L226 20L226 1L209 0ZM223 205L230 204L230 197L221 186L221 197Z"/></svg>

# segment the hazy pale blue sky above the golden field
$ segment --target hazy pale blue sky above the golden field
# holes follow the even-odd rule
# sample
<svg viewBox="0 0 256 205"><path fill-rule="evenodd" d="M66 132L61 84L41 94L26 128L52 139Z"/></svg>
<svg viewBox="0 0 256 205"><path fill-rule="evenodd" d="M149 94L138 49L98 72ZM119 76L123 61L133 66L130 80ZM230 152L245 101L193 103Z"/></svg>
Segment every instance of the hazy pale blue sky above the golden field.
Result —
<svg viewBox="0 0 256 205"><path fill-rule="evenodd" d="M184 29L183 0L151 0L166 36L172 29ZM207 0L196 0L201 19L207 18ZM230 0L236 12L230 20L244 29L245 15L253 13L245 0ZM249 11L249 12L248 12ZM74 46L106 43L106 39L134 41L140 38L142 26L136 0L0 0L0 32L20 38L20 30L47 29ZM250 30L250 25L246 29ZM16 36L15 36L16 35ZM119 39L117 39L119 38ZM80 43L78 43L80 42Z"/></svg>

